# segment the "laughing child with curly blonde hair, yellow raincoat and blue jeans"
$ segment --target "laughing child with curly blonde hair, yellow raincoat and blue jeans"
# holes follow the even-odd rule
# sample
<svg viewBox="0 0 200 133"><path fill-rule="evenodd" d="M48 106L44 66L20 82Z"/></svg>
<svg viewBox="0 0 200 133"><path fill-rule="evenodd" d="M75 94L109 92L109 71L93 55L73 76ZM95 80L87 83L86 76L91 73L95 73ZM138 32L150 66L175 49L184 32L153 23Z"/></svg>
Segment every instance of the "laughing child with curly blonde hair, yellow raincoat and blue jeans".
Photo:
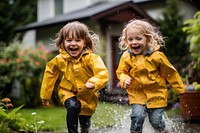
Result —
<svg viewBox="0 0 200 133"><path fill-rule="evenodd" d="M132 107L131 133L142 132L147 115L156 131L167 132L163 120L168 97L166 81L178 94L184 93L185 88L177 70L159 51L164 46L163 37L149 22L131 20L119 40L119 48L126 51L116 74Z"/></svg>

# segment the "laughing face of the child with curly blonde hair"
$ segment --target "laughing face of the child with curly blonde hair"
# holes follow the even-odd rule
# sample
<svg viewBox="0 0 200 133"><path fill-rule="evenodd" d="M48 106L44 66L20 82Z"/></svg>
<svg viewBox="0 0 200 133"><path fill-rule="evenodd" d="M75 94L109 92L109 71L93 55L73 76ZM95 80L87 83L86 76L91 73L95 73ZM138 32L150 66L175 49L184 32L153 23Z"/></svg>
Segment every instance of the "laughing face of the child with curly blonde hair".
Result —
<svg viewBox="0 0 200 133"><path fill-rule="evenodd" d="M148 38L139 30L127 30L127 44L135 55L143 55L147 50Z"/></svg>

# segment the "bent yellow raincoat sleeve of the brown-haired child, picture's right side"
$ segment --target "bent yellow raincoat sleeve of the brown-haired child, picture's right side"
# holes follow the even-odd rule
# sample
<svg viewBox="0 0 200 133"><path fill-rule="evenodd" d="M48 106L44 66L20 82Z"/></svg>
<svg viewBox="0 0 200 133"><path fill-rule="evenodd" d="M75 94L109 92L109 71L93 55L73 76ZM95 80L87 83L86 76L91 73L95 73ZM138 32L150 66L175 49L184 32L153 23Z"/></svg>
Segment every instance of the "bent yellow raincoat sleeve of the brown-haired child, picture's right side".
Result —
<svg viewBox="0 0 200 133"><path fill-rule="evenodd" d="M108 82L109 75L108 70L98 55L92 56L90 60L90 65L93 71L94 76L91 77L88 82L91 82L95 85L94 91L102 89Z"/></svg>

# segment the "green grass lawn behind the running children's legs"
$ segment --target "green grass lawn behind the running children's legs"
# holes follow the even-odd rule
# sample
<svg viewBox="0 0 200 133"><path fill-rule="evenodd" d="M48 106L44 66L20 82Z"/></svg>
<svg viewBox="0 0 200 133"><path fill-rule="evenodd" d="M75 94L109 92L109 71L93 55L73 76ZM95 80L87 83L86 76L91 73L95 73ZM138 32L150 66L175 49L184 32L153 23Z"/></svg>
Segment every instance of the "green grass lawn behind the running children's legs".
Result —
<svg viewBox="0 0 200 133"><path fill-rule="evenodd" d="M99 102L95 114L92 116L92 128L101 129L119 124L123 117L130 115L131 108L127 105L117 105L112 103ZM66 132L66 109L64 107L42 107L36 109L21 109L22 116L28 120L28 124L33 124L34 119L43 120L43 131ZM32 113L36 113L32 115ZM173 116L179 112L166 111L168 116ZM127 118L127 117L126 117Z"/></svg>

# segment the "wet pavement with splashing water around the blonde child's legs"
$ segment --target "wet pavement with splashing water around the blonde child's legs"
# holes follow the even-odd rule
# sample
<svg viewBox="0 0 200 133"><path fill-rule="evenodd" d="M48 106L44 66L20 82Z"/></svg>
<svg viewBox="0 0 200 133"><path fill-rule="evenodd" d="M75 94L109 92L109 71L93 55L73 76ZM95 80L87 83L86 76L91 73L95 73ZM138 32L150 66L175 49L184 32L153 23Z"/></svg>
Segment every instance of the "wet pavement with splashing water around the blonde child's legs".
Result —
<svg viewBox="0 0 200 133"><path fill-rule="evenodd" d="M166 117L165 119L166 128L170 133L200 133L199 121L185 122L179 116ZM92 129L90 133L129 133L129 128L130 119L129 116L125 116L119 125L103 129ZM143 133L156 133L149 124L148 118L145 119Z"/></svg>

